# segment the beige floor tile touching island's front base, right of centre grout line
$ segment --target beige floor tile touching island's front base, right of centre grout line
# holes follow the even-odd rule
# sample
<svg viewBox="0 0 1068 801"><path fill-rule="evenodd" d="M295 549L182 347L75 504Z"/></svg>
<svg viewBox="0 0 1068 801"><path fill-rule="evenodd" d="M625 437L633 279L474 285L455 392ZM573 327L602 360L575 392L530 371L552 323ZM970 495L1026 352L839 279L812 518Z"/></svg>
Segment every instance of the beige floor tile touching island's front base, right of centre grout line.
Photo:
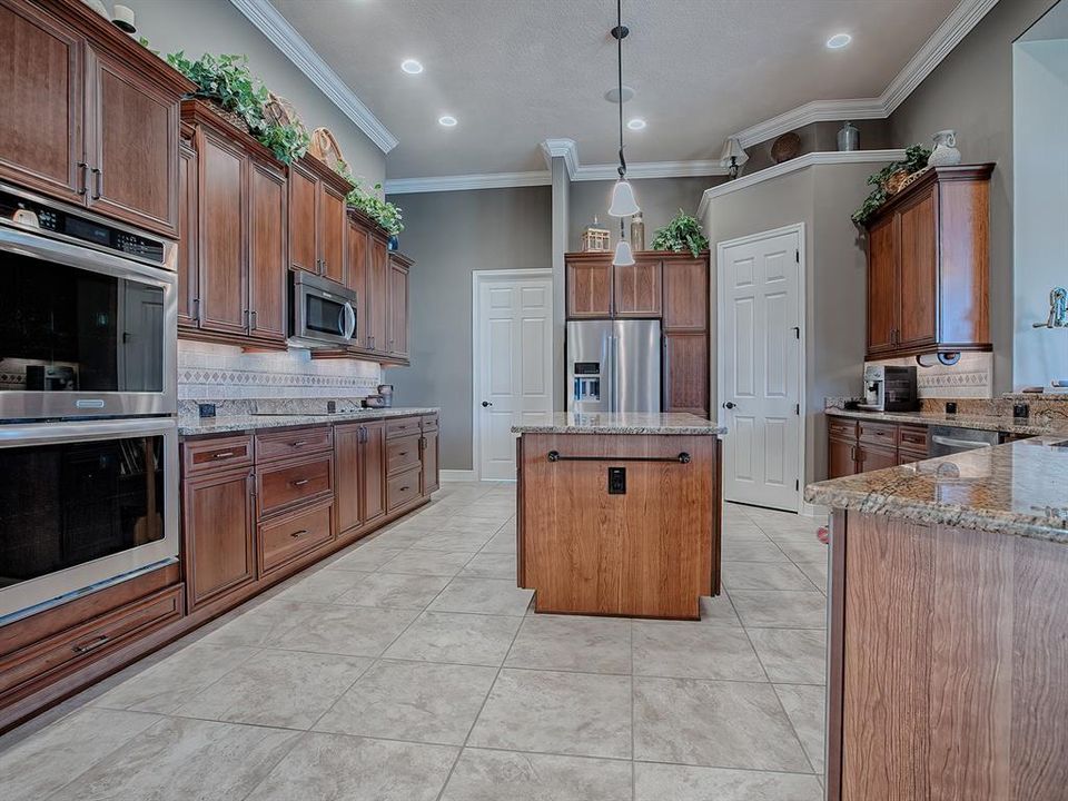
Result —
<svg viewBox="0 0 1068 801"><path fill-rule="evenodd" d="M634 623L634 675L768 681L742 629Z"/></svg>

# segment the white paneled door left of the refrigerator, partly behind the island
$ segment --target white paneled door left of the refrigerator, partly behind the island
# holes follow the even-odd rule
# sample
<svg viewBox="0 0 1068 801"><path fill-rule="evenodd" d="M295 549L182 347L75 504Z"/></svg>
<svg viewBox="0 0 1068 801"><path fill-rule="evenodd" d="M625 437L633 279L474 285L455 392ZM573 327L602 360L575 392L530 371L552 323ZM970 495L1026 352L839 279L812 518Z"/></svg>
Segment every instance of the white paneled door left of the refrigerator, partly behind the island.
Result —
<svg viewBox="0 0 1068 801"><path fill-rule="evenodd" d="M483 481L515 478L512 426L553 414L553 279L475 273L475 459Z"/></svg>

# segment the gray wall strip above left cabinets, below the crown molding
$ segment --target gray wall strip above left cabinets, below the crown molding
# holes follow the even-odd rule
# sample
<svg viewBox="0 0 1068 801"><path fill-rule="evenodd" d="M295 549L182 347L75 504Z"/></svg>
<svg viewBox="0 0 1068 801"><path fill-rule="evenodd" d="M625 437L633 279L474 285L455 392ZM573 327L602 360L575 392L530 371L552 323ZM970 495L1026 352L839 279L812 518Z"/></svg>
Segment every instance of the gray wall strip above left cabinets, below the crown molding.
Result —
<svg viewBox="0 0 1068 801"><path fill-rule="evenodd" d="M137 36L148 39L161 56L178 50L192 58L205 52L247 55L253 75L289 100L309 131L319 126L333 131L353 175L372 186L385 178L382 150L227 0L122 2L137 13Z"/></svg>

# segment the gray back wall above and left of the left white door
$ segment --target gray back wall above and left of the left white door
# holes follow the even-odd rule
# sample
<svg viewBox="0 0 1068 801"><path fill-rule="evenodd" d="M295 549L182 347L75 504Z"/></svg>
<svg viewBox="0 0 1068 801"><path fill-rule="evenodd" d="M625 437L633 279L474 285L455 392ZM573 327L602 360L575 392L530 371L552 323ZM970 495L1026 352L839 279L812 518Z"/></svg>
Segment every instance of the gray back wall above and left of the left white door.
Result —
<svg viewBox="0 0 1068 801"><path fill-rule="evenodd" d="M403 195L400 249L415 259L411 367L385 370L400 406L441 406L441 463L472 469L471 274L552 267L552 188Z"/></svg>

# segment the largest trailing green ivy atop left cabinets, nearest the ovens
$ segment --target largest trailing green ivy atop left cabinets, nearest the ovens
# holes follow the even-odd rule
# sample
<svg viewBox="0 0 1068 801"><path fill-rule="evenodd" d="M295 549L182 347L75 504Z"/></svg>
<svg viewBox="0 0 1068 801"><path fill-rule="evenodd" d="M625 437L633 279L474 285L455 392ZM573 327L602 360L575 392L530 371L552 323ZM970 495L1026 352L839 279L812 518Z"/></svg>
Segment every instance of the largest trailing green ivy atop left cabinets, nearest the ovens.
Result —
<svg viewBox="0 0 1068 801"><path fill-rule="evenodd" d="M248 71L247 56L205 53L192 61L179 50L168 53L167 63L197 85L194 97L211 100L245 120L249 132L279 161L290 164L307 152L309 138L303 125L278 125L268 119L265 107L270 96Z"/></svg>

